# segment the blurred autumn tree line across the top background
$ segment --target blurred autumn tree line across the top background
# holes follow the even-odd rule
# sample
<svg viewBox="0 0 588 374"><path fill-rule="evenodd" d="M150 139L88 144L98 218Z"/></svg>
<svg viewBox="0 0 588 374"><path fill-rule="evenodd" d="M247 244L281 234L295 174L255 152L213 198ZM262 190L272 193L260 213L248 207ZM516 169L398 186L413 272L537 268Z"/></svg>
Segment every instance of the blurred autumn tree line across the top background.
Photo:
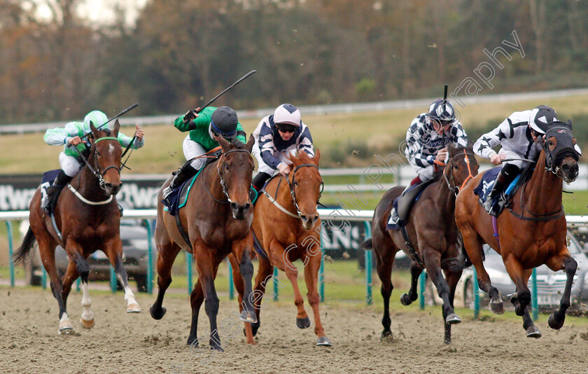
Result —
<svg viewBox="0 0 588 374"><path fill-rule="evenodd" d="M584 86L588 1L151 0L134 25L80 18L84 0L0 0L0 123L180 113L247 71L219 99L235 109ZM521 51L508 49L513 41ZM491 81L477 78L492 72ZM496 63L493 66L497 66ZM487 84L490 83L490 84ZM470 85L470 94L475 85ZM479 90L478 90L479 91ZM217 104L217 103L215 103Z"/></svg>

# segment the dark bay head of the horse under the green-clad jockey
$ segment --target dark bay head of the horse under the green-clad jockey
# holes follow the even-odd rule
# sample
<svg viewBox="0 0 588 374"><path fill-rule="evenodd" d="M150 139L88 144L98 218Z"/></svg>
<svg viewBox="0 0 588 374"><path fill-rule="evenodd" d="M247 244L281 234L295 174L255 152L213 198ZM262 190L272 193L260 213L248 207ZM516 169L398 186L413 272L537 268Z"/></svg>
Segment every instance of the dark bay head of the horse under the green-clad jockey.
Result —
<svg viewBox="0 0 588 374"><path fill-rule="evenodd" d="M218 159L216 170L221 177L223 192L227 196L234 219L245 219L248 209L251 207L249 190L253 175L253 158L251 150L255 139L249 137L246 144L237 138L231 142L224 137L216 137L216 141L223 148L223 155Z"/></svg>

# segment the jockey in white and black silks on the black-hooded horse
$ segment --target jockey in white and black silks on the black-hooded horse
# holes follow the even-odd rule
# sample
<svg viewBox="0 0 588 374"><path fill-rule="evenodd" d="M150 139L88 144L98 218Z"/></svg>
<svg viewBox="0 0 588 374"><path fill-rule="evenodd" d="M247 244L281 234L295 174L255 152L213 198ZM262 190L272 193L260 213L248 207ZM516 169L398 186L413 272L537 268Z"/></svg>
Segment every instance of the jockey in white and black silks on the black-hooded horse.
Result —
<svg viewBox="0 0 588 374"><path fill-rule="evenodd" d="M494 165L500 165L505 159L533 160L541 151L541 139L547 127L556 120L555 111L547 105L528 111L515 111L494 130L477 139L474 152L480 157L488 158ZM498 144L502 148L496 153L492 148ZM493 204L493 200L516 178L525 165L524 162L510 160L503 163L492 191L484 202L486 212L498 216L500 209L498 204Z"/></svg>

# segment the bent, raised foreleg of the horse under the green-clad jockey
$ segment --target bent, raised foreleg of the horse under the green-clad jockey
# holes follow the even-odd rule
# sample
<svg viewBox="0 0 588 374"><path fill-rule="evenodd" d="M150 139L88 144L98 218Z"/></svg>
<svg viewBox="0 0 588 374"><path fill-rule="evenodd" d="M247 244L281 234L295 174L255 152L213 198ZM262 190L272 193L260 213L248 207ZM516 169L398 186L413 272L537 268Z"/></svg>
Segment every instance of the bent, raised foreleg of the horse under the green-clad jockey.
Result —
<svg viewBox="0 0 588 374"><path fill-rule="evenodd" d="M254 324L257 322L255 317L255 310L253 308L253 288L251 286L251 279L253 278L253 263L251 263L251 249L253 249L253 230L249 229L246 237L241 240L234 240L232 242L232 254L235 256L243 279L243 300L241 301L241 317L242 321ZM253 338L253 334L250 337Z"/></svg>

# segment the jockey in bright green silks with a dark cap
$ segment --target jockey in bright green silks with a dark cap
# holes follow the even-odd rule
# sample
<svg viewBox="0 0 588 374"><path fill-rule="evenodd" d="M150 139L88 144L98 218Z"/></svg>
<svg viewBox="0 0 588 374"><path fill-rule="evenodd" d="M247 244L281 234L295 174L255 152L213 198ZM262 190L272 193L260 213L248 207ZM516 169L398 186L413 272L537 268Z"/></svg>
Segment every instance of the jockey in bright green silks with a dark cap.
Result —
<svg viewBox="0 0 588 374"><path fill-rule="evenodd" d="M237 120L237 113L228 106L207 106L200 113L188 111L184 116L176 118L174 126L181 132L189 131L182 144L188 161L173 173L174 179L163 190L162 197L170 204L167 200L169 194L206 165L207 158L200 156L219 146L213 136L223 135L228 141L236 137L241 143L246 143L246 134Z"/></svg>

